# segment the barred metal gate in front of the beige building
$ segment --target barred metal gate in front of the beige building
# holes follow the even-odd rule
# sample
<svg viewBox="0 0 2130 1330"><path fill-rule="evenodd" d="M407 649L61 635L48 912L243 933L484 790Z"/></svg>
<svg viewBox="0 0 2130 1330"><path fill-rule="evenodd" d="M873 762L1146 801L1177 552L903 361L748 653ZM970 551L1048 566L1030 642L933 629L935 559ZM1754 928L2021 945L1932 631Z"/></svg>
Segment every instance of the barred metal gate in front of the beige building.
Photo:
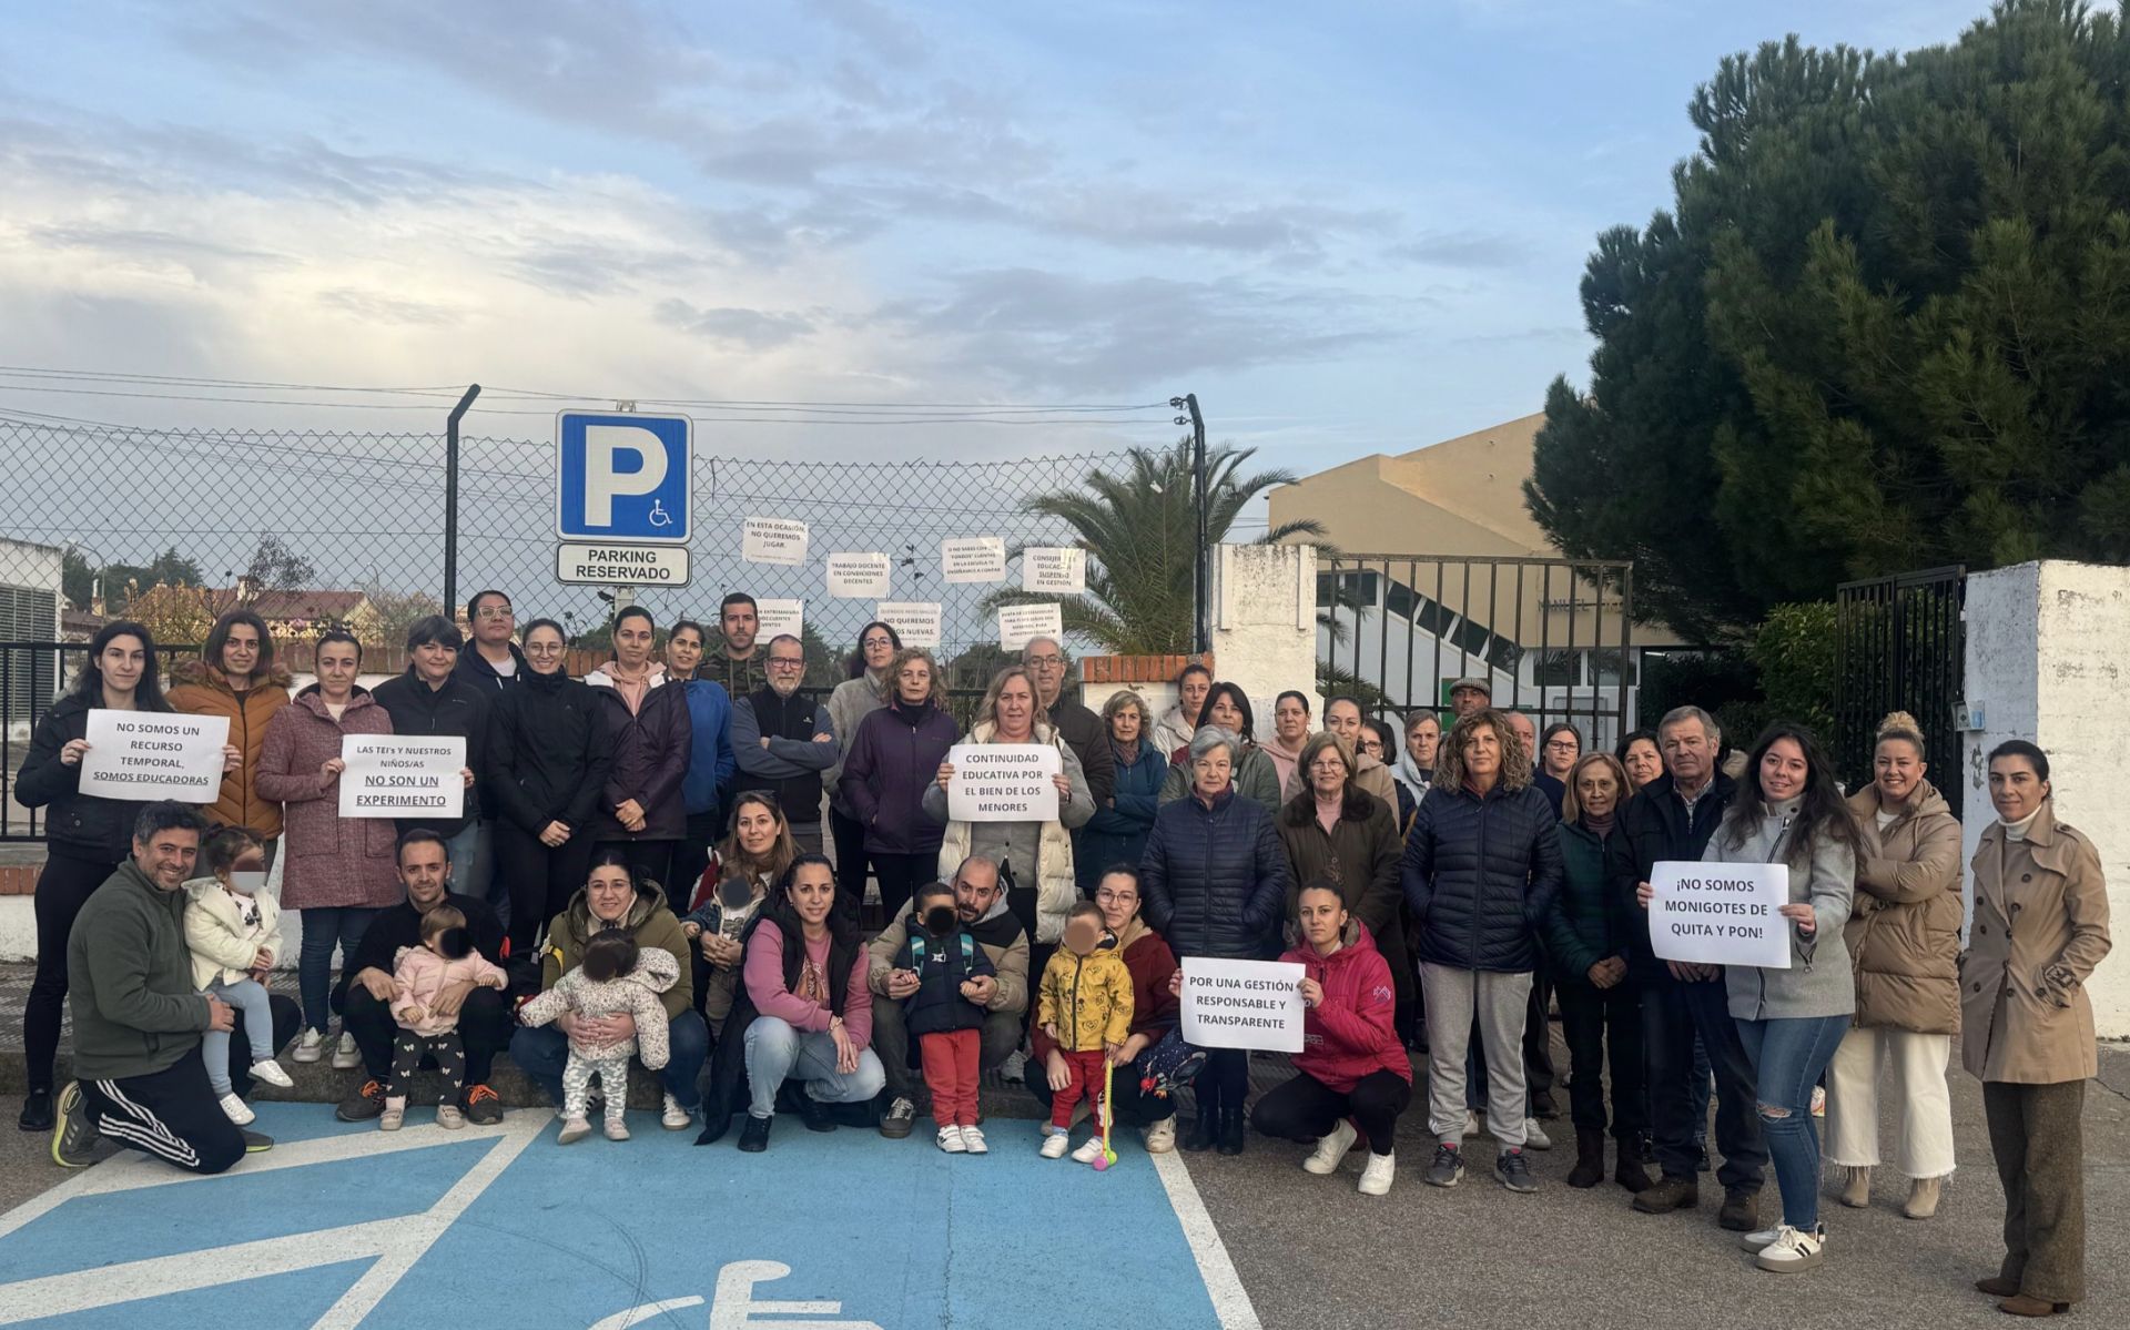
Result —
<svg viewBox="0 0 2130 1330"><path fill-rule="evenodd" d="M1316 563L1316 659L1325 695L1363 712L1436 710L1478 676L1493 703L1540 729L1566 720L1585 750L1632 725L1634 565L1604 558L1325 554Z"/></svg>

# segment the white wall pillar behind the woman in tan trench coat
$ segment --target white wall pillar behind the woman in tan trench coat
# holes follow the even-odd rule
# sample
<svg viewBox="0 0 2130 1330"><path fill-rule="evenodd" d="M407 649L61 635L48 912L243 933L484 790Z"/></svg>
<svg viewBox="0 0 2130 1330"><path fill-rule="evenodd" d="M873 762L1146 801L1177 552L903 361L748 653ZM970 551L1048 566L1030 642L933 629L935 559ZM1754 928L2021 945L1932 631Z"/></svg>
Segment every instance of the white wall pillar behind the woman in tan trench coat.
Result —
<svg viewBox="0 0 2130 1330"><path fill-rule="evenodd" d="M1989 808L1987 752L2028 740L2049 755L2055 816L2100 850L2117 951L2087 983L2100 1038L2130 1038L2130 808L2124 806L2124 695L2130 688L2130 567L2021 563L1968 578L1966 716L1960 767L1934 763L1938 784L1966 782L1966 859ZM1975 712L1981 727L1975 727ZM1936 757L1936 755L1932 755ZM1943 759L1940 759L1943 761ZM1966 876L1972 906L1975 876ZM1972 910L1970 910L1972 917ZM1964 931L1964 929L1962 929Z"/></svg>

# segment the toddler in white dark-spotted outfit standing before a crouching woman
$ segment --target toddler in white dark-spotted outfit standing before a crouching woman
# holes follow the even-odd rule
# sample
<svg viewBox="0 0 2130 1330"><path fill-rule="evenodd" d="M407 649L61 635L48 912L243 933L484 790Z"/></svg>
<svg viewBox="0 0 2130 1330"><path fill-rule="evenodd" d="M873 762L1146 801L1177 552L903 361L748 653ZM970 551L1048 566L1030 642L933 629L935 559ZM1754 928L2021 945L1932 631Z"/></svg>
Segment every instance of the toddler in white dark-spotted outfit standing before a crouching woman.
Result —
<svg viewBox="0 0 2130 1330"><path fill-rule="evenodd" d="M560 1145L584 1140L592 1134L586 1108L592 1093L592 1076L607 1096L607 1140L628 1140L628 1059L637 1057L648 1070L667 1064L671 1044L667 1040L665 993L679 980L679 966L673 953L662 946L639 948L637 940L622 929L603 929L584 944L584 961L575 970L554 980L554 987L526 1002L518 1010L524 1025L545 1025L562 1012L577 1017L613 1017L628 1012L635 1017L635 1038L588 1044L569 1036L569 1061L562 1064L562 1134Z"/></svg>

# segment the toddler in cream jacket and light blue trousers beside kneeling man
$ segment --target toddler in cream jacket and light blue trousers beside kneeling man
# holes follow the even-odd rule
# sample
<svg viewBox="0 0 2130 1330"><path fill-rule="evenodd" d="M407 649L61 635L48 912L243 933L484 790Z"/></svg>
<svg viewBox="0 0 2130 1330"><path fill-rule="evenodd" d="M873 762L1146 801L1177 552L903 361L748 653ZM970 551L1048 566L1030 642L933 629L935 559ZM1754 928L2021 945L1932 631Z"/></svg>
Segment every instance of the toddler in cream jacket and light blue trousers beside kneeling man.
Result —
<svg viewBox="0 0 2130 1330"><path fill-rule="evenodd" d="M294 1085L273 1057L273 1008L266 1004L266 972L281 955L281 906L266 885L266 850L245 827L222 827L200 846L204 878L185 882L185 946L192 951L192 983L245 1012L251 1040L251 1074L266 1085ZM207 1083L222 1110L239 1128L256 1115L230 1085L230 1032L209 1029L200 1040Z"/></svg>

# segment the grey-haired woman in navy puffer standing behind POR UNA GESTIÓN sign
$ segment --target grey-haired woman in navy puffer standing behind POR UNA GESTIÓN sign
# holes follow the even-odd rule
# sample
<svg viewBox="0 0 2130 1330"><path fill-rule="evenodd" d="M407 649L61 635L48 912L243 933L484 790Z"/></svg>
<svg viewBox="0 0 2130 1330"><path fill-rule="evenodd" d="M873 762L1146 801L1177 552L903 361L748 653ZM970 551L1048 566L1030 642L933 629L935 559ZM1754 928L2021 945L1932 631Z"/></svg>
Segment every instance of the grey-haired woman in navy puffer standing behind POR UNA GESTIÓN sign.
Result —
<svg viewBox="0 0 2130 1330"><path fill-rule="evenodd" d="M1287 904L1287 850L1272 812L1235 793L1238 746L1225 729L1199 729L1191 737L1191 793L1163 804L1146 836L1146 923L1178 957L1265 959ZM1193 1083L1199 1115L1184 1149L1218 1142L1223 1155L1240 1155L1248 1089L1248 1051L1212 1049Z"/></svg>

